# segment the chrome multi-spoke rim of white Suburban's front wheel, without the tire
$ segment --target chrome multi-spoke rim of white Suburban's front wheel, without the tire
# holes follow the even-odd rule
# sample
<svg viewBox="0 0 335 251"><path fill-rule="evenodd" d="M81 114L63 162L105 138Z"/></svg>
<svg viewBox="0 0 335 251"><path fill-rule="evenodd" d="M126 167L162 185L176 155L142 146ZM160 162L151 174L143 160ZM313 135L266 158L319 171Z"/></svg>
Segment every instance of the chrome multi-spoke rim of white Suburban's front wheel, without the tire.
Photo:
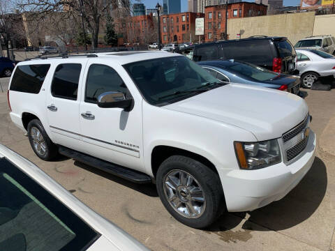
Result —
<svg viewBox="0 0 335 251"><path fill-rule="evenodd" d="M199 218L206 208L206 198L198 181L187 172L172 170L165 175L164 193L170 206L186 218Z"/></svg>

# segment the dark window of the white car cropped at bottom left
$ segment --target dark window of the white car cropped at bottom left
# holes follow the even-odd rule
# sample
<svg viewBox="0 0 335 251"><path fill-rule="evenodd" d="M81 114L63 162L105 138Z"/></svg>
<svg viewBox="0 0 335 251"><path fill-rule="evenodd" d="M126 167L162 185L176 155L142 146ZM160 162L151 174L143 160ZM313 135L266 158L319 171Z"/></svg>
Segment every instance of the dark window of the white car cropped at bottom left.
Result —
<svg viewBox="0 0 335 251"><path fill-rule="evenodd" d="M99 236L6 158L0 158L0 250L82 250Z"/></svg>

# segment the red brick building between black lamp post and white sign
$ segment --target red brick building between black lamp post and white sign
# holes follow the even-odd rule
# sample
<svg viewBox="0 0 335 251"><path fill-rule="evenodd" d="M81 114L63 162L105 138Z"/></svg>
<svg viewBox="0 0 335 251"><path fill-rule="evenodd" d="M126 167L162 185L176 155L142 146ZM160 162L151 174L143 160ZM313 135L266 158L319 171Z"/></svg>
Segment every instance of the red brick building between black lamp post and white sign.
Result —
<svg viewBox="0 0 335 251"><path fill-rule="evenodd" d="M195 41L195 18L203 13L176 13L161 16L161 40L163 44ZM197 36L198 37L198 36Z"/></svg>

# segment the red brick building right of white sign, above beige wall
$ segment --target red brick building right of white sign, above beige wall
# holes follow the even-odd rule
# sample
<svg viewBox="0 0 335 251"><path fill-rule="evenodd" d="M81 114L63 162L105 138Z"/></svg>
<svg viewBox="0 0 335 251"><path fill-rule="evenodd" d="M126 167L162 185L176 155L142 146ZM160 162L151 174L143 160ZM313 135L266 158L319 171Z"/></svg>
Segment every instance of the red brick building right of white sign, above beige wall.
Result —
<svg viewBox="0 0 335 251"><path fill-rule="evenodd" d="M211 42L225 37L225 4L207 6L204 8L204 35L205 41ZM228 3L228 19L240 17L255 17L267 15L267 6L264 4L240 2ZM236 36L236 34L228 34Z"/></svg>

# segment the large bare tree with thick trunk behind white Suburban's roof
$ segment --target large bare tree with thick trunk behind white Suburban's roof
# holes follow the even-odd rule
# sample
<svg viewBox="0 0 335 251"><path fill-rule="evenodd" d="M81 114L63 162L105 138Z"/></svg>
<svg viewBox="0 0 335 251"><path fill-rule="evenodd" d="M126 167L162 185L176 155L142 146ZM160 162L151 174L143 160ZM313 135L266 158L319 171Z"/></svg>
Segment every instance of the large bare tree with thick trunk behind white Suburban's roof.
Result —
<svg viewBox="0 0 335 251"><path fill-rule="evenodd" d="M129 0L16 0L17 8L23 13L34 13L35 19L45 15L64 13L63 18L77 20L82 15L87 29L91 32L92 47L98 47L101 21L112 10L129 13Z"/></svg>

